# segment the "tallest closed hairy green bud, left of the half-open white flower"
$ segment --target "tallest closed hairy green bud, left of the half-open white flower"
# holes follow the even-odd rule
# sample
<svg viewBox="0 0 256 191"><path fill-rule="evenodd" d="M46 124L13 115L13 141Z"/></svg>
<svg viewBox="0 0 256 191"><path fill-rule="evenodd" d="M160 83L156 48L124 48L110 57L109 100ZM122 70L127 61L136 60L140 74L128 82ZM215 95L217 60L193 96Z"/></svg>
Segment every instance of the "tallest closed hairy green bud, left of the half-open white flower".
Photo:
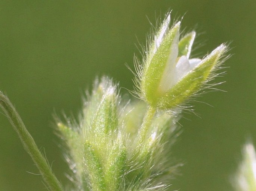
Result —
<svg viewBox="0 0 256 191"><path fill-rule="evenodd" d="M97 152L105 153L106 141L118 126L118 93L112 80L103 77L96 83L89 102L84 108L82 134L89 140Z"/></svg>

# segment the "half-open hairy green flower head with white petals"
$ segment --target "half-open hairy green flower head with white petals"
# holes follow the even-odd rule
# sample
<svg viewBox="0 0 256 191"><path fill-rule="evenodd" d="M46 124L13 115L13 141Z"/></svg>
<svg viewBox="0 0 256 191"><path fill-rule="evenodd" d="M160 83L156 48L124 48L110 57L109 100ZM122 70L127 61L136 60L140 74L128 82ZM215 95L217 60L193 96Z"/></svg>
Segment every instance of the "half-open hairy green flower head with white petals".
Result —
<svg viewBox="0 0 256 191"><path fill-rule="evenodd" d="M195 32L180 39L181 22L170 29L169 24L170 15L149 46L144 63L138 67L139 95L150 106L160 109L182 104L200 90L227 50L222 44L203 60L189 59Z"/></svg>

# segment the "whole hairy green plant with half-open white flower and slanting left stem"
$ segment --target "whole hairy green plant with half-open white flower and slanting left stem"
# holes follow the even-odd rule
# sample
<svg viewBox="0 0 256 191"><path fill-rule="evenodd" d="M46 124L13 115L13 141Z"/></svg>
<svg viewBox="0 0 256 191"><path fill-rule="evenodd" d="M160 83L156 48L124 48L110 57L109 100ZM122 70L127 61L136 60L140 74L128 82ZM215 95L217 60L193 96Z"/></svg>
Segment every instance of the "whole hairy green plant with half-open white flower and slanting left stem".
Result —
<svg viewBox="0 0 256 191"><path fill-rule="evenodd" d="M110 78L94 83L84 99L80 121L58 121L68 147L70 180L76 191L169 190L175 167L169 151L177 135L181 106L217 76L227 58L221 44L209 55L190 58L195 32L180 38L181 22L170 26L170 13L136 61L137 101L123 101ZM137 60L137 59L135 59ZM211 86L211 85L208 85ZM0 106L19 134L51 191L64 188L40 153L9 99L0 93ZM179 109L177 109L179 108ZM177 165L176 165L177 166Z"/></svg>

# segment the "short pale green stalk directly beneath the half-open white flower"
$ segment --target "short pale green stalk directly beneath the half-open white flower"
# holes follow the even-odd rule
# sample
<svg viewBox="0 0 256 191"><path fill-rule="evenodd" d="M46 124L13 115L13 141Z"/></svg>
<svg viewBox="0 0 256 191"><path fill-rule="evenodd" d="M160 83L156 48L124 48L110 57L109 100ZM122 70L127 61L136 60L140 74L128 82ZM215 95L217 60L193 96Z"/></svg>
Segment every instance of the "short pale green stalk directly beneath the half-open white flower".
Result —
<svg viewBox="0 0 256 191"><path fill-rule="evenodd" d="M148 129L151 125L152 118L155 115L155 111L156 111L155 108L153 108L152 106L148 106L146 114L143 118L141 128L139 129L139 132L138 132L138 141L137 141L138 145L144 142L146 134L148 133Z"/></svg>

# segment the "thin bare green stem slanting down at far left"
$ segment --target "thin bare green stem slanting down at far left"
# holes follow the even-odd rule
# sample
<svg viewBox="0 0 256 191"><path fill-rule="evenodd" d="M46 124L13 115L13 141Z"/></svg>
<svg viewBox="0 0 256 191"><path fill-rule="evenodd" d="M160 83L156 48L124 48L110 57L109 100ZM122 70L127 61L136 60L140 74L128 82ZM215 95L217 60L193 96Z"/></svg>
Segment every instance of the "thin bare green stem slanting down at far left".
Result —
<svg viewBox="0 0 256 191"><path fill-rule="evenodd" d="M43 176L44 181L49 186L49 190L63 191L61 183L53 174L49 163L47 162L46 158L42 155L40 150L38 149L33 137L30 135L30 133L26 129L18 112L15 110L14 106L12 105L8 97L5 96L1 91L0 91L0 107L3 109L4 114L9 119L14 130L18 133L24 149L28 152L28 154L33 159L41 175Z"/></svg>

